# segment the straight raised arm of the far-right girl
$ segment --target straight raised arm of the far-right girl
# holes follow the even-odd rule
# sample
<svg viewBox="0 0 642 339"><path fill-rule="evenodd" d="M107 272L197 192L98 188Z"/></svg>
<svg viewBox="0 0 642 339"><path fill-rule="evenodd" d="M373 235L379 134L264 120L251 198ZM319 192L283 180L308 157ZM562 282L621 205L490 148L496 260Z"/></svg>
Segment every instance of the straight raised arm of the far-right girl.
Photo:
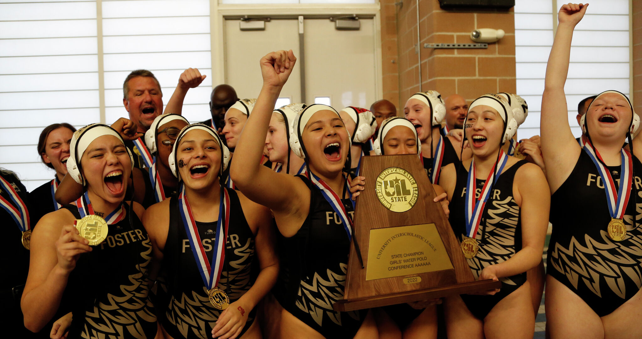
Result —
<svg viewBox="0 0 642 339"><path fill-rule="evenodd" d="M568 178L582 151L568 124L564 83L568 76L573 29L584 17L587 7L588 4L564 4L560 8L557 33L546 64L540 125L542 154L551 192Z"/></svg>

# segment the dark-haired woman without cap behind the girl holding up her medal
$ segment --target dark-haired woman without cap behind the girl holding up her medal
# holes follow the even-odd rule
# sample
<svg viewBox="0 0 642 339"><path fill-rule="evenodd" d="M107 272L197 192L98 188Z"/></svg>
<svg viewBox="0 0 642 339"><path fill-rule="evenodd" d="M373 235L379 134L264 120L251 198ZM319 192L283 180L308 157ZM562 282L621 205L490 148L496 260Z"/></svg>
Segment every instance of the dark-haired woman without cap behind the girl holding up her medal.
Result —
<svg viewBox="0 0 642 339"><path fill-rule="evenodd" d="M38 138L40 161L55 170L56 175L51 181L40 185L29 193L33 225L37 224L43 215L62 207L56 203L55 195L60 181L67 174L69 142L71 142L71 136L75 131L74 126L63 122L62 124L51 124L40 132L40 138Z"/></svg>

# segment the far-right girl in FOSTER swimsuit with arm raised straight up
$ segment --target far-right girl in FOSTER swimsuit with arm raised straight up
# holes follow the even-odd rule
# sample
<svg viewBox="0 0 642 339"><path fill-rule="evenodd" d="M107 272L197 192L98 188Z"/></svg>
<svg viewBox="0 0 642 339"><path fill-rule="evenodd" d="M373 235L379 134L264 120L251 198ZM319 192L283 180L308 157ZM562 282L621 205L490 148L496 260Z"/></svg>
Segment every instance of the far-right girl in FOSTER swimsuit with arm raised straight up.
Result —
<svg viewBox="0 0 642 339"><path fill-rule="evenodd" d="M587 6L560 8L542 95L542 154L553 192L546 325L553 338L637 338L642 333L642 167L630 137L639 117L624 94L603 92L580 120L584 147L567 118L571 38ZM625 140L633 154L622 149Z"/></svg>

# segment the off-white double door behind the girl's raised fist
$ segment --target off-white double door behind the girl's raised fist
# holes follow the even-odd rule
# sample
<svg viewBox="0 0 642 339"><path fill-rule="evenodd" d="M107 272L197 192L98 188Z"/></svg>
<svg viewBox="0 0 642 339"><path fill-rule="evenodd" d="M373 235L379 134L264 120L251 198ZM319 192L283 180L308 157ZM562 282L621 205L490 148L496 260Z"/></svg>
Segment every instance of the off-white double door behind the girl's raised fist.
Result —
<svg viewBox="0 0 642 339"><path fill-rule="evenodd" d="M369 108L377 97L374 19L360 19L358 31L337 30L329 19L301 20L302 38L299 19L273 19L265 22L263 31L241 31L238 19L225 20L225 82L239 97L257 97L263 84L261 56L291 49L299 60L281 91L280 104L290 99L293 103L329 102L336 110Z"/></svg>

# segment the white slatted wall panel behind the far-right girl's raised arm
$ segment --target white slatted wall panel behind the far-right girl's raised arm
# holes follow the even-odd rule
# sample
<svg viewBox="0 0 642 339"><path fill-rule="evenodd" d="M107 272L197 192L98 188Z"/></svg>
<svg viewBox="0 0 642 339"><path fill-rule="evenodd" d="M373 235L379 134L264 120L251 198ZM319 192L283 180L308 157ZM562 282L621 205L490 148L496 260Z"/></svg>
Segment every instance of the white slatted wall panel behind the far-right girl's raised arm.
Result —
<svg viewBox="0 0 642 339"><path fill-rule="evenodd" d="M517 0L515 6L517 94L528 103L526 122L519 138L539 134L539 117L546 62L553 43L553 15L559 8L551 0ZM561 3L559 3L561 6ZM537 31L535 29L541 29ZM539 33L538 33L539 32ZM629 1L598 1L573 33L571 63L564 87L568 121L575 136L577 104L603 90L629 93Z"/></svg>

